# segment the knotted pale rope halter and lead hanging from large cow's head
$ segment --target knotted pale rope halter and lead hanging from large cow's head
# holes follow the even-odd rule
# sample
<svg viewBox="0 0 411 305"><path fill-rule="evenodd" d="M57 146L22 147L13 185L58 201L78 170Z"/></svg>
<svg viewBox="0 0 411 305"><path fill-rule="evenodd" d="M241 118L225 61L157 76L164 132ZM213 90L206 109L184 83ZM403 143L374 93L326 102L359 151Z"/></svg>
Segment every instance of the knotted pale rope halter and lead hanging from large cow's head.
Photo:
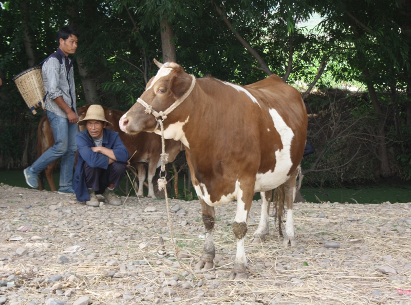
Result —
<svg viewBox="0 0 411 305"><path fill-rule="evenodd" d="M148 105L142 99L140 99L140 98L137 99L137 102L139 102L145 108L144 112L147 113L147 115L153 115L156 118L157 125L156 125L156 128L154 128L154 130L156 130L158 128L158 126L160 125L160 131L161 131L161 155L160 155L160 157L161 157L161 170L160 170L160 178L157 181L158 189L159 190L164 189L165 203L167 205L167 216L169 217L170 237L171 237L171 240L172 240L173 245L174 245L175 257L176 257L180 267L185 271L187 271L187 270L183 267L183 265L180 262L180 259L178 258L178 254L180 253L180 249L174 241L173 227L172 227L172 221L171 221L171 216L170 216L170 206L169 206L169 198L168 198L169 196L167 196L167 187L166 187L167 179L165 178L167 176L167 174L165 173L165 164L169 161L169 154L165 153L163 121L167 118L167 115L169 115L170 112L172 112L174 109L176 109L189 96L191 91L193 91L194 86L196 84L196 78L194 77L194 75L190 75L190 76L192 78L192 81L191 81L191 85L190 85L189 90L187 90L181 98L177 99L165 111L157 112L156 110L153 109L153 107L151 105ZM164 173L163 177L161 177L161 173Z"/></svg>

